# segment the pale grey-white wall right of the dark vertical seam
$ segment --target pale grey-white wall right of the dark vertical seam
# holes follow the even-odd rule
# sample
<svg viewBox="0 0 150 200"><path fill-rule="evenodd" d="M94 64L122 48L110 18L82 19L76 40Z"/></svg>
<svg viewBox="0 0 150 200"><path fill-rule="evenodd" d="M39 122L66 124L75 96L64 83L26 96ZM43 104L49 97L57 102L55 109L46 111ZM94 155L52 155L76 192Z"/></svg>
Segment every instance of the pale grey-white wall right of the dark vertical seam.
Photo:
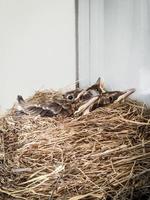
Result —
<svg viewBox="0 0 150 200"><path fill-rule="evenodd" d="M113 90L135 87L150 105L150 1L79 2L81 85L101 76Z"/></svg>

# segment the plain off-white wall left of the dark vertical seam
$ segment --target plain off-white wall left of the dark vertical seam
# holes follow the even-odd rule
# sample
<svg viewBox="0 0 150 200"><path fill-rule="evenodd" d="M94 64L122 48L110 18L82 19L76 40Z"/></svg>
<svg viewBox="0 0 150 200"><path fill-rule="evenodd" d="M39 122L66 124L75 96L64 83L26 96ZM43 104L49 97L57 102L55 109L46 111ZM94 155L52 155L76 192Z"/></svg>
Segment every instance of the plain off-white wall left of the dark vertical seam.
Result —
<svg viewBox="0 0 150 200"><path fill-rule="evenodd" d="M74 0L0 0L0 106L75 81Z"/></svg>

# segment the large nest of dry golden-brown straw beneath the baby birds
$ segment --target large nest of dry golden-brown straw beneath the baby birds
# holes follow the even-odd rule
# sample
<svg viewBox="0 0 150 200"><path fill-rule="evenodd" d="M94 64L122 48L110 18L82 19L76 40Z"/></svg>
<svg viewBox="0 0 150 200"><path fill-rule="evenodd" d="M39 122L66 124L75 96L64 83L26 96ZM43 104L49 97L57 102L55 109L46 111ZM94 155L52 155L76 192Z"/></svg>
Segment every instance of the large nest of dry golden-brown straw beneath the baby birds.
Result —
<svg viewBox="0 0 150 200"><path fill-rule="evenodd" d="M133 100L65 119L12 109L0 119L0 198L148 199L149 119Z"/></svg>

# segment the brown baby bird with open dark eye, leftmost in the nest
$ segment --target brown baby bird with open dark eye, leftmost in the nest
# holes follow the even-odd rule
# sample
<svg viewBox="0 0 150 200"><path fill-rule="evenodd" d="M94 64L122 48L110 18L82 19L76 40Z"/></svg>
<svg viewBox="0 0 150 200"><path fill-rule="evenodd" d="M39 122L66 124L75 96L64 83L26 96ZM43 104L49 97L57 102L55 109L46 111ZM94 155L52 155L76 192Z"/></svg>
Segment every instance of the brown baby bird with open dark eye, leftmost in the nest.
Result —
<svg viewBox="0 0 150 200"><path fill-rule="evenodd" d="M40 104L26 102L20 95L18 95L17 100L21 111L27 115L40 115L41 117L71 116L83 103L102 92L99 78L95 84L86 90L79 88L71 90L63 94L62 98L56 96L51 101L44 101Z"/></svg>

